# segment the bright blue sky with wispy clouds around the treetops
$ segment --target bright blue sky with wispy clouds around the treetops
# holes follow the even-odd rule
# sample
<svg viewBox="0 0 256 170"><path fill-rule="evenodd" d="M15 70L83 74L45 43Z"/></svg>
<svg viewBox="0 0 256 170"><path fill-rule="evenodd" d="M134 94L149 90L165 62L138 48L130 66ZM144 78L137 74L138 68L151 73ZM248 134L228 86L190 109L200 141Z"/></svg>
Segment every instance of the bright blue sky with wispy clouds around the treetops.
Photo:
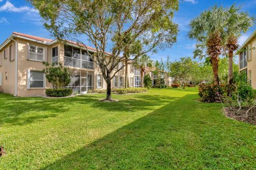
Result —
<svg viewBox="0 0 256 170"><path fill-rule="evenodd" d="M256 0L240 1L214 1L214 0L183 0L180 1L179 11L175 13L174 22L179 24L178 41L172 48L158 51L157 54L149 54L153 60L166 59L170 56L171 60L179 60L180 57L193 55L195 41L189 40L187 32L188 24L205 9L214 4L230 6L231 4L242 5L243 10L249 12L251 16L256 16ZM256 27L252 27L245 33L239 44L242 44L251 35ZM41 18L33 7L26 0L0 0L0 44L11 35L13 31L27 33L30 35L44 38L52 38L41 24Z"/></svg>

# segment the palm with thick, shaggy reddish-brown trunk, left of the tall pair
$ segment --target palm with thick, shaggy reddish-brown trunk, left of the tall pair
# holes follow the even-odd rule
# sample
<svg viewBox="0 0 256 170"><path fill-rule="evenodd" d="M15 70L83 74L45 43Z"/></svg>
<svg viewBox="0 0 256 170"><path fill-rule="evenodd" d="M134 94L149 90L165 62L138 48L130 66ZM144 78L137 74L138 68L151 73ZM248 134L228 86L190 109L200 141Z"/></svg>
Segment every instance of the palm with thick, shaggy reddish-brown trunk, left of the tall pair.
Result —
<svg viewBox="0 0 256 170"><path fill-rule="evenodd" d="M210 56L212 63L214 84L219 84L219 55L223 47L223 32L225 25L225 10L217 5L202 12L195 19L190 21L190 39L196 39L196 50L194 57Z"/></svg>

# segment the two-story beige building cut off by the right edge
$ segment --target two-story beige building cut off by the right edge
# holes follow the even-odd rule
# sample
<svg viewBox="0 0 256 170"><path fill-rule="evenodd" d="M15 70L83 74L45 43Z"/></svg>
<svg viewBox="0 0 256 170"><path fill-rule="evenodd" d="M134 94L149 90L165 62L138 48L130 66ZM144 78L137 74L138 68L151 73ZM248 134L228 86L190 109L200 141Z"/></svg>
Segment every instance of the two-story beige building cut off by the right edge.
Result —
<svg viewBox="0 0 256 170"><path fill-rule="evenodd" d="M256 30L237 50L239 55L239 72L244 71L252 87L256 89Z"/></svg>

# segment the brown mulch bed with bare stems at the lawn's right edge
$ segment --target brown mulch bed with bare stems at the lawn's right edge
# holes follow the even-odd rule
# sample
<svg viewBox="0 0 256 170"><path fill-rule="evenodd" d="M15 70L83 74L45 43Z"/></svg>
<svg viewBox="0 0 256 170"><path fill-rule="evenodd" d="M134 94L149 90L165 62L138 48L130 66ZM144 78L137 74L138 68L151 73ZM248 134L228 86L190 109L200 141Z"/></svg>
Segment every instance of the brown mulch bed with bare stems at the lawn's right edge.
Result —
<svg viewBox="0 0 256 170"><path fill-rule="evenodd" d="M225 113L228 117L230 118L234 118L237 121L242 121L242 122L246 122L246 123L250 123L250 124L254 124L256 125L256 108L254 107L253 109L251 109L251 112L249 113L248 117L246 118L245 113L247 111L247 107L243 107L241 109L241 111L236 114L236 112L238 111L238 107L233 107L233 108L225 108Z"/></svg>

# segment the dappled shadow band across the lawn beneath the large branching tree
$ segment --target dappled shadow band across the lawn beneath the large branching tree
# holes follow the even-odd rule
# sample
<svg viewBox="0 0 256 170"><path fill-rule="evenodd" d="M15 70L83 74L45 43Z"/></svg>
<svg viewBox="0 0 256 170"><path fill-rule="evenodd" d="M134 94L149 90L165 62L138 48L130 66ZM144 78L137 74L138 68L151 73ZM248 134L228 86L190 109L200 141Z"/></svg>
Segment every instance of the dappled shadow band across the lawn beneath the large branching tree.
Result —
<svg viewBox="0 0 256 170"><path fill-rule="evenodd" d="M110 112L138 112L152 110L152 107L165 105L177 98L169 96L137 95L135 98L122 98L118 102L103 103L102 95L81 95L70 98L50 99L42 97L13 97L0 94L0 126L2 124L25 125L40 122L58 114L70 112L70 107L90 105ZM86 112L86 109L83 111Z"/></svg>

